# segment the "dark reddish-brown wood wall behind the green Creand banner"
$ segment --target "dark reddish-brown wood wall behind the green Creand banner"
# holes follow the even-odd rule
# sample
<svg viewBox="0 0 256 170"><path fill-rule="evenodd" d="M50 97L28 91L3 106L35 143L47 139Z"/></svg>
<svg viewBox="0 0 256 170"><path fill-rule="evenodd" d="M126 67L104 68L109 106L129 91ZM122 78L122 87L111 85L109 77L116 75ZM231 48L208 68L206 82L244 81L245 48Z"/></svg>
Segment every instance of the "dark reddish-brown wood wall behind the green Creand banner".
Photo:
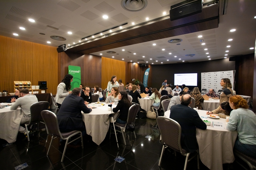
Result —
<svg viewBox="0 0 256 170"><path fill-rule="evenodd" d="M101 57L90 54L58 53L58 83L68 74L68 66L81 67L81 84L84 86L101 85ZM56 86L57 88L57 86Z"/></svg>

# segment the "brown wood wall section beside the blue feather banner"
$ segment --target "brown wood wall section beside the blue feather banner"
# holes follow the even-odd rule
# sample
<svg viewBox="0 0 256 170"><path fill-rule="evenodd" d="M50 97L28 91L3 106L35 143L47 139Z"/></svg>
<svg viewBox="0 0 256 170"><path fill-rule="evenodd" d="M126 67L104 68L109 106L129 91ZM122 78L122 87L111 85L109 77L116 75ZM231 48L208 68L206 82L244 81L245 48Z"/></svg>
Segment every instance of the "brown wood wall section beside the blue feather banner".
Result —
<svg viewBox="0 0 256 170"><path fill-rule="evenodd" d="M127 74L126 74L126 82L134 84L131 79L138 79L143 83L143 77L144 77L144 72L147 68L149 69L149 76L148 76L148 86L151 87L151 80L152 80L152 69L151 65L147 64L146 67L139 67L138 63L132 63L128 62L127 63Z"/></svg>

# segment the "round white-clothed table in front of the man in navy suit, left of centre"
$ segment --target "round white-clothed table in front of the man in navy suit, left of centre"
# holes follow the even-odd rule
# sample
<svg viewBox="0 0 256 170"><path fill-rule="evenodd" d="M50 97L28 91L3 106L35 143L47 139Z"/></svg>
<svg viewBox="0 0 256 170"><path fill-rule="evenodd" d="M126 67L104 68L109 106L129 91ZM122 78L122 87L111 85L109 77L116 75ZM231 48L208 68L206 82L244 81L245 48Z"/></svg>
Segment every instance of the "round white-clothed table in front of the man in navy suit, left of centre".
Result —
<svg viewBox="0 0 256 170"><path fill-rule="evenodd" d="M109 103L101 103L105 105L98 106L98 104L90 103L88 106L95 106L95 108L92 108L90 113L85 114L82 112L86 133L92 136L92 141L97 145L100 145L107 135L110 124L109 115L111 114L111 111L108 111ZM112 104L112 109L116 106L116 104ZM116 122L118 116L119 112L113 113L114 122Z"/></svg>

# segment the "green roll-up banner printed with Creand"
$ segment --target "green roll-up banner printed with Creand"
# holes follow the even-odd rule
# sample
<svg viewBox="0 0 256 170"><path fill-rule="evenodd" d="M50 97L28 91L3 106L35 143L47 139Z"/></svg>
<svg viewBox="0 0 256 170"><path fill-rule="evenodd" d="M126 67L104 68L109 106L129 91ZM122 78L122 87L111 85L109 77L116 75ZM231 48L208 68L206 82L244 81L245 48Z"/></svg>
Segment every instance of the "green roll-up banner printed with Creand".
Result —
<svg viewBox="0 0 256 170"><path fill-rule="evenodd" d="M68 66L68 74L73 76L73 82L71 82L71 90L79 87L81 84L81 67L79 66Z"/></svg>

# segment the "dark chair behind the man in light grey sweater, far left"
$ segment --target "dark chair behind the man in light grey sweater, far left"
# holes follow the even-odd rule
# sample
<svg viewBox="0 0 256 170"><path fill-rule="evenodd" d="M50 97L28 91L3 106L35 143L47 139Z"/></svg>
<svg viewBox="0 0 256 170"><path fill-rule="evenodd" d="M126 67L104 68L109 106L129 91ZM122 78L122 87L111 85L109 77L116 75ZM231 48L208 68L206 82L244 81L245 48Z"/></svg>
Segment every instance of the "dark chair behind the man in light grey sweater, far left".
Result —
<svg viewBox="0 0 256 170"><path fill-rule="evenodd" d="M28 135L29 134L28 133L28 126L31 125L31 124L37 123L37 131L38 131L39 130L38 123L43 121L43 118L41 116L41 111L48 110L48 108L49 108L49 102L37 102L37 103L34 103L30 106L31 119L30 119L29 122L24 123L26 131L27 131L28 141L30 141L29 140L29 135Z"/></svg>

